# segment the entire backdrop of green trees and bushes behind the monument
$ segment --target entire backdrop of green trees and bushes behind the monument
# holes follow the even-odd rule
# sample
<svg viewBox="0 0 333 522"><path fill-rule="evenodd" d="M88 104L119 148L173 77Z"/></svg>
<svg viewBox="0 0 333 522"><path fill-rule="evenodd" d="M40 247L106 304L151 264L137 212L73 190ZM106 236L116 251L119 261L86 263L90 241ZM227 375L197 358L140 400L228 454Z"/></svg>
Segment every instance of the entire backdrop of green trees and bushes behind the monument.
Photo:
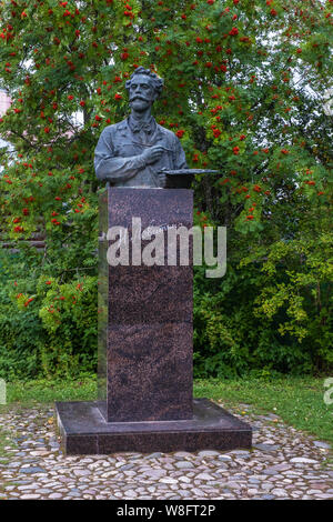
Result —
<svg viewBox="0 0 333 522"><path fill-rule="evenodd" d="M124 82L139 66L164 78L154 116L184 131L189 165L221 171L193 183L198 220L228 227L229 263L221 281L195 273L196 374L332 368L331 10L305 0L1 2L0 88L12 106L0 118L11 144L0 150L0 228L21 252L0 291L3 374L92 368L93 149L127 116ZM24 247L32 235L46 238L42 253Z"/></svg>

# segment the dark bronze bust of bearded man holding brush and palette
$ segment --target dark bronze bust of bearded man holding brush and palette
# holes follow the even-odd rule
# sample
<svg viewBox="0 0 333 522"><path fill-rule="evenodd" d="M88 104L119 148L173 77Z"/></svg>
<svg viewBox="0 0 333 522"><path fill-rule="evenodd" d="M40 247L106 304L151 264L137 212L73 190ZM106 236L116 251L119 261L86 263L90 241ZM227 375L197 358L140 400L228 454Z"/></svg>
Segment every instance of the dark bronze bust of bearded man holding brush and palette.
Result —
<svg viewBox="0 0 333 522"><path fill-rule="evenodd" d="M159 126L151 114L161 94L163 80L139 67L125 82L131 114L120 123L105 127L94 152L94 168L100 180L112 187L167 185L161 170L186 169L185 154L178 137ZM168 187L188 188L192 177L174 175Z"/></svg>

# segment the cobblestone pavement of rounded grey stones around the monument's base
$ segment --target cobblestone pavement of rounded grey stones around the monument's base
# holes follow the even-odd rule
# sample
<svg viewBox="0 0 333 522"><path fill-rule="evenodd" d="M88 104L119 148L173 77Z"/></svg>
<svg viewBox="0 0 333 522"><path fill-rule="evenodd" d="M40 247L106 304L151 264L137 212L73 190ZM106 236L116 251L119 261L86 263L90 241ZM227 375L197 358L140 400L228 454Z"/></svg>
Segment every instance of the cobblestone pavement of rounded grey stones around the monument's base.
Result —
<svg viewBox="0 0 333 522"><path fill-rule="evenodd" d="M333 499L329 444L287 426L276 415L255 415L245 404L240 408L244 411L233 413L254 429L251 451L149 455L63 456L52 409L1 413L8 445L0 451L0 500Z"/></svg>

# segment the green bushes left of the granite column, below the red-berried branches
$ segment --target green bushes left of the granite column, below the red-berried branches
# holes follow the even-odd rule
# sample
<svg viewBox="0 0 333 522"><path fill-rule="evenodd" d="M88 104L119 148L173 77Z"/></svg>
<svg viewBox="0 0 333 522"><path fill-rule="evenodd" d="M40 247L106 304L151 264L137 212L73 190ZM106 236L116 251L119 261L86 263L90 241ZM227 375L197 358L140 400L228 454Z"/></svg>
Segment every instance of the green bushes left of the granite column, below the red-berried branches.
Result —
<svg viewBox="0 0 333 522"><path fill-rule="evenodd" d="M95 277L61 283L36 268L34 277L27 278L21 260L11 257L6 267L7 257L1 259L0 377L70 377L94 370ZM13 273L16 279L7 278Z"/></svg>

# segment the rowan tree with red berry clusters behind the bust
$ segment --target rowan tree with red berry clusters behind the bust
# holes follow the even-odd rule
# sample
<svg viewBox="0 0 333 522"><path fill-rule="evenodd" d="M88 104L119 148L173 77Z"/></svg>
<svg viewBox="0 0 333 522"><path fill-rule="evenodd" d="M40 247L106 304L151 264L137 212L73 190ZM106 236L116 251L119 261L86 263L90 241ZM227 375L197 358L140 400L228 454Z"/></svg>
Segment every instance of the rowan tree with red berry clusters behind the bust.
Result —
<svg viewBox="0 0 333 522"><path fill-rule="evenodd" d="M164 78L154 116L181 139L189 165L221 172L195 179L195 220L228 227L229 274L234 268L242 278L239 264L243 262L244 274L249 260L263 268L276 244L299 241L301 232L304 239L309 227L321 238L317 244L331 241L333 133L325 106L332 86L331 12L332 0L0 2L0 87L12 100L0 119L0 134L10 143L1 151L2 229L11 241L37 230L46 237L42 253L24 250L23 262L38 287L31 282L28 289L21 278L26 289L19 289L21 308L34 295L26 309L36 307L46 328L59 333L65 322L62 314L77 305L77 285L84 289L83 274L89 292L93 288L102 189L94 175L93 150L102 129L128 114L124 82L139 66ZM312 244L315 252L320 255ZM302 255L301 249L293 261L301 271ZM280 262L283 279L283 255ZM250 277L246 267L245 279ZM313 285L326 285L326 280L325 273L303 281L301 297L310 295L311 301ZM274 294L276 281L255 280L250 298L253 313L259 299L258 313L266 313L266 320L276 319L281 307L275 303L275 312L265 311L264 297L258 298L256 292L266 283ZM67 309L68 300L59 302L64 284L71 302ZM200 299L220 291L223 283L211 283L209 289L206 284L202 283ZM249 288L243 290L248 295ZM54 299L57 309L51 307ZM317 319L326 304L319 312L316 299L309 309ZM221 310L219 300L216 307ZM199 359L203 344L211 342L206 335L213 312L206 319L198 308L198 323L204 324L202 330L198 327ZM228 330L223 318L221 328ZM325 325L325 318L326 312L319 324ZM93 318L89 321L92 324ZM281 321L282 328L289 324L285 317ZM294 321L306 330L303 315ZM242 345L234 339L239 328L238 322L230 327L229 337L221 329L214 331L214 357ZM251 328L255 329L254 323ZM297 337L294 330L289 333ZM71 338L69 331L65 334ZM311 343L309 331L301 340L306 335ZM80 348L75 350L80 353ZM250 364L248 352L234 350L239 350L238 361Z"/></svg>

